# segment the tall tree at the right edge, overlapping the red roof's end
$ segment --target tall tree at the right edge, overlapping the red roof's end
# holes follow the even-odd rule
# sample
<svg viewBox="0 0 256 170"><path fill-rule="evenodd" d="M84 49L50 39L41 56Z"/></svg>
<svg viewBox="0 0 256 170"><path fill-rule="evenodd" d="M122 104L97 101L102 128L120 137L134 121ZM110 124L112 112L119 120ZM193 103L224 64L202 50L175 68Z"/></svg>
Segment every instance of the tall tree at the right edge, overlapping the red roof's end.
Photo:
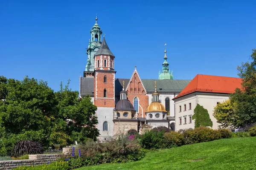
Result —
<svg viewBox="0 0 256 170"><path fill-rule="evenodd" d="M252 62L242 63L237 68L239 77L242 78L241 89L237 88L230 95L234 105L236 121L234 127L243 127L256 122L256 49L250 56Z"/></svg>

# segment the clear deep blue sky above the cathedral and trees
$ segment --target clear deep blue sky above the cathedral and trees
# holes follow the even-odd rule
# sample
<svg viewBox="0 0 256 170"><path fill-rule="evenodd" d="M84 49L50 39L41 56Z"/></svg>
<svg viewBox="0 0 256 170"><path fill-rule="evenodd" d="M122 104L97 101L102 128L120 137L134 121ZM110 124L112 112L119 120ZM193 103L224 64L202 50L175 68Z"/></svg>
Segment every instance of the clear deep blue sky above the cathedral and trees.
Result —
<svg viewBox="0 0 256 170"><path fill-rule="evenodd" d="M237 77L256 48L255 0L0 1L0 75L25 75L79 90L90 28L98 24L115 55L116 78L158 79L166 42L175 79Z"/></svg>

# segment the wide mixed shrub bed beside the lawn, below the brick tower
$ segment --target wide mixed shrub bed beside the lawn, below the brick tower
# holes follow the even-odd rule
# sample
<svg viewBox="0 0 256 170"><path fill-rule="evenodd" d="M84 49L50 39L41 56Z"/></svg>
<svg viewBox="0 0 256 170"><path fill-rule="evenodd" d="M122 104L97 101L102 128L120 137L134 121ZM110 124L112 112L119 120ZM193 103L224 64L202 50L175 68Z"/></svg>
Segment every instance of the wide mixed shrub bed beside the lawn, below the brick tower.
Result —
<svg viewBox="0 0 256 170"><path fill-rule="evenodd" d="M89 140L79 145L79 149L81 158L75 153L68 160L70 167L137 161L145 156L139 141L126 135L104 143Z"/></svg>

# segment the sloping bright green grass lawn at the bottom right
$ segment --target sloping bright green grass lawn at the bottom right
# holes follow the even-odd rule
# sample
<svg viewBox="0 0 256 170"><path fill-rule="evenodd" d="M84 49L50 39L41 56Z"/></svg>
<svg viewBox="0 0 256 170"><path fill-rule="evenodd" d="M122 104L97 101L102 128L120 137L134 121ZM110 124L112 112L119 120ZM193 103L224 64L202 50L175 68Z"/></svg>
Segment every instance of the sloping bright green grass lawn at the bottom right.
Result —
<svg viewBox="0 0 256 170"><path fill-rule="evenodd" d="M256 137L221 139L150 151L140 161L76 170L256 170Z"/></svg>

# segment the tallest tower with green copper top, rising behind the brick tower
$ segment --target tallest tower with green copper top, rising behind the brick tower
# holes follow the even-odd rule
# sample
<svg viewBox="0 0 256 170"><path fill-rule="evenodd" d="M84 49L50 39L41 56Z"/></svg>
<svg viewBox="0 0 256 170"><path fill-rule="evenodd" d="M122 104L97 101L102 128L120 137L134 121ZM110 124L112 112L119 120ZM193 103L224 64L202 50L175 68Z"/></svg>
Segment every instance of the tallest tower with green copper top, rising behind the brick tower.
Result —
<svg viewBox="0 0 256 170"><path fill-rule="evenodd" d="M86 72L93 72L94 71L94 55L99 50L102 41L102 30L98 25L98 17L96 15L96 23L94 24L93 28L91 28L90 34L91 39L89 40L89 45L87 50L87 65L85 66ZM87 74L88 75L88 74ZM85 76L84 76L85 77Z"/></svg>

